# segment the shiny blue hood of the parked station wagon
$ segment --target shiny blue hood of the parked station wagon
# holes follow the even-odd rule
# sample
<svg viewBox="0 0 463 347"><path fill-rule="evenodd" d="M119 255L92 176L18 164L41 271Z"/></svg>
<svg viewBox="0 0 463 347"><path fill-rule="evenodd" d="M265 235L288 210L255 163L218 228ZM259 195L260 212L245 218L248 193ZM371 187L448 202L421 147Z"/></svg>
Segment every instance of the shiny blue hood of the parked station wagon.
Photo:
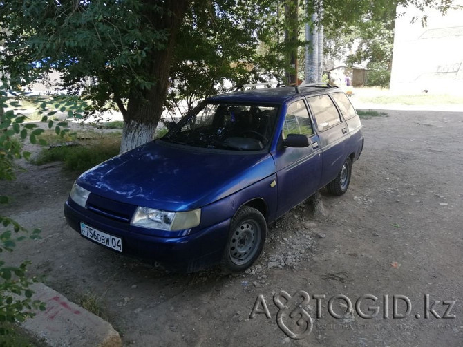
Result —
<svg viewBox="0 0 463 347"><path fill-rule="evenodd" d="M269 153L195 149L157 140L102 162L77 183L112 200L187 211L229 196L274 170Z"/></svg>

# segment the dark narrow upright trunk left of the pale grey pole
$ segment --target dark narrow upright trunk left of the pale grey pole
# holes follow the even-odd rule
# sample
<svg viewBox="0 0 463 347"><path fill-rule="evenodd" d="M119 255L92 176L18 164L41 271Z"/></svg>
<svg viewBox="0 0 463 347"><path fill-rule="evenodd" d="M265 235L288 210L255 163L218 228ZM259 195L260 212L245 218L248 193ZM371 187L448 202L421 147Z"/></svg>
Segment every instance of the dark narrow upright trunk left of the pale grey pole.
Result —
<svg viewBox="0 0 463 347"><path fill-rule="evenodd" d="M285 43L287 46L286 62L290 65L287 68L287 85L297 86L298 64L297 46L299 35L299 0L285 0Z"/></svg>

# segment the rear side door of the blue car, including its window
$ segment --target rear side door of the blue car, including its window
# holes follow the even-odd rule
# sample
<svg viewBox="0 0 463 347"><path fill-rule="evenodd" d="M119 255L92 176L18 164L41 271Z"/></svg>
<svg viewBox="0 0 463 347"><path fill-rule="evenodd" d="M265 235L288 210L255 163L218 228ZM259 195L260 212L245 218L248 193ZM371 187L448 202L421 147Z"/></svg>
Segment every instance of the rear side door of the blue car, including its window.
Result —
<svg viewBox="0 0 463 347"><path fill-rule="evenodd" d="M336 178L346 160L346 140L349 137L346 122L328 94L307 98L316 123L323 164L319 187L324 187Z"/></svg>

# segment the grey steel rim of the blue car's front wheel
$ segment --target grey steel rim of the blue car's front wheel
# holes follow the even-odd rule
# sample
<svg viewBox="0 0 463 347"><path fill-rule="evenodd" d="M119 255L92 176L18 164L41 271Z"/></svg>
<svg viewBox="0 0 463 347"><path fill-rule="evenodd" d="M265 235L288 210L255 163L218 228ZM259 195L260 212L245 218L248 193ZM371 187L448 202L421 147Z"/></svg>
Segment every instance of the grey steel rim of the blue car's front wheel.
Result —
<svg viewBox="0 0 463 347"><path fill-rule="evenodd" d="M229 243L230 259L235 265L243 265L254 257L261 237L261 227L256 221L247 220L234 229Z"/></svg>

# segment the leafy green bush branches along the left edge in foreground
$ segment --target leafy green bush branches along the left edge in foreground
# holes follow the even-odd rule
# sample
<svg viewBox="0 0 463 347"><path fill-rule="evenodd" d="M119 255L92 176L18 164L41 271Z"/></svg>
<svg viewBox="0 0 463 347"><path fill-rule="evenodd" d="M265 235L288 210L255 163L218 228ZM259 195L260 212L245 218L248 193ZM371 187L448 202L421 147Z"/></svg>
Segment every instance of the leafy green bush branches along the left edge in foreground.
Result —
<svg viewBox="0 0 463 347"><path fill-rule="evenodd" d="M65 135L68 129L62 129L65 123L48 121L54 109L67 108L66 100L40 100L39 112L43 114L42 121L48 123L49 128L55 129L58 135ZM14 160L26 158L30 153L21 150L19 138L28 139L32 144L45 144L41 129L37 124L27 123L28 118L21 113L15 113L15 108L21 105L18 100L8 101L6 92L0 89L0 180L15 179ZM52 111L50 111L52 110ZM7 196L0 196L0 203L8 203ZM12 334L8 323L22 322L32 317L32 308L45 310L44 303L32 300L32 290L29 286L35 281L27 276L28 261L19 266L10 266L3 260L6 253L12 252L17 243L24 238L39 238L40 229L28 232L19 223L0 215L0 335ZM7 323L7 324L6 324Z"/></svg>

